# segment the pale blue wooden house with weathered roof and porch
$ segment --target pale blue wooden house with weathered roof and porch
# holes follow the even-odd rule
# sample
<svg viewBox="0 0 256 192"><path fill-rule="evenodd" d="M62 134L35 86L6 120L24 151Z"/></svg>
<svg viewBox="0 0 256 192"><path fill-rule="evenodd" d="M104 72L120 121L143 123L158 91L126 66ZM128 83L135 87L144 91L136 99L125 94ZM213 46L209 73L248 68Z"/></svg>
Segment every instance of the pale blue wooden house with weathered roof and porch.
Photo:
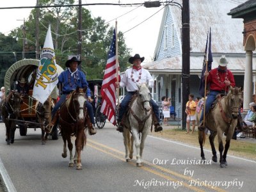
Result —
<svg viewBox="0 0 256 192"><path fill-rule="evenodd" d="M182 1L176 1L182 4ZM222 55L228 60L228 69L235 77L236 86L244 86L246 67L243 49L243 21L232 19L228 12L237 6L234 1L209 0L189 1L190 9L190 93L199 96L198 87L204 61L207 33L212 34L212 68L218 67ZM172 3L164 8L163 19L155 49L155 60L143 65L155 79L152 89L154 99L159 101L163 95L172 97L172 106L181 116L181 77L182 77L182 39L181 10ZM253 58L256 61L256 58ZM255 71L255 66L253 66Z"/></svg>

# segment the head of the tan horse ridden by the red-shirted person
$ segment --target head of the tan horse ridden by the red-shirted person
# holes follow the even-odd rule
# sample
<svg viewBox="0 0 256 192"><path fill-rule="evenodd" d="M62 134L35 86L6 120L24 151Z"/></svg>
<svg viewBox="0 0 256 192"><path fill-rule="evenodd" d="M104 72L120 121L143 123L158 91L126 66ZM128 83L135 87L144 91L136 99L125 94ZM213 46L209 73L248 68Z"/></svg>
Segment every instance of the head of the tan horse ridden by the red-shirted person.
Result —
<svg viewBox="0 0 256 192"><path fill-rule="evenodd" d="M230 91L228 92L227 96L230 97L229 106L231 109L232 118L237 118L242 100L241 88L232 88L232 86L230 86Z"/></svg>

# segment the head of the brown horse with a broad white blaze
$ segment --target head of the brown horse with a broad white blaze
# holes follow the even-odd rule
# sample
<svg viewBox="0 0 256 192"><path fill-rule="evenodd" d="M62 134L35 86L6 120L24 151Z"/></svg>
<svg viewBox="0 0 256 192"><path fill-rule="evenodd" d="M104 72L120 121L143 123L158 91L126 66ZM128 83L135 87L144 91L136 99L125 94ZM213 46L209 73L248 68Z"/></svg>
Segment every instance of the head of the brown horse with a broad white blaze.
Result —
<svg viewBox="0 0 256 192"><path fill-rule="evenodd" d="M76 121L84 120L84 106L86 102L85 97L86 88L76 88L74 92L72 92L72 104L74 104L74 113L76 113Z"/></svg>

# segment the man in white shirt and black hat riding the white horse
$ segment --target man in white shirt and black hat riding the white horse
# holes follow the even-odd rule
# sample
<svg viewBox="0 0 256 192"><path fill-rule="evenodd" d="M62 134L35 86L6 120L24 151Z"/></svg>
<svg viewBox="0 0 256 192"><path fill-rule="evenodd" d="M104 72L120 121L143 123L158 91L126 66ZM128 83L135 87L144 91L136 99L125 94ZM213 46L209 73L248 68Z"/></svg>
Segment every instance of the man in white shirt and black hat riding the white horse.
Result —
<svg viewBox="0 0 256 192"><path fill-rule="evenodd" d="M118 127L116 131L124 132L124 127L122 125L122 118L126 112L126 109L131 101L132 95L138 91L138 87L136 83L148 83L148 86L152 88L154 86L154 79L145 68L141 67L141 63L144 61L144 57L140 57L140 54L135 54L133 57L129 58L129 63L132 64L132 68L128 68L125 71L124 76L121 79L120 83L116 83L116 87L126 87L127 94L122 100L118 113ZM163 127L159 124L159 108L154 102L154 100L150 100L150 104L152 106L154 115L153 121L155 125L155 132L162 131Z"/></svg>

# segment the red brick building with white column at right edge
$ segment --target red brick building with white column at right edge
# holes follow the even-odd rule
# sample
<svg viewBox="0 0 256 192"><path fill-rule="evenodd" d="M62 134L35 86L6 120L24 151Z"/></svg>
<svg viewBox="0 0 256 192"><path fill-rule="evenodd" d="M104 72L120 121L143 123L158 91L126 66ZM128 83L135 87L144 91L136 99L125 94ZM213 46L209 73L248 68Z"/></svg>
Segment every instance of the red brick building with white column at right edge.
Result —
<svg viewBox="0 0 256 192"><path fill-rule="evenodd" d="M228 15L232 15L232 18L242 18L244 23L243 39L244 51L246 51L246 68L244 70L244 107L248 109L249 103L252 100L252 89L248 84L252 84L252 66L253 66L253 51L256 47L256 1L250 0L243 4L240 4L236 8L232 8ZM254 76L255 79L255 76ZM253 86L255 90L255 84ZM255 93L255 92L254 92Z"/></svg>

